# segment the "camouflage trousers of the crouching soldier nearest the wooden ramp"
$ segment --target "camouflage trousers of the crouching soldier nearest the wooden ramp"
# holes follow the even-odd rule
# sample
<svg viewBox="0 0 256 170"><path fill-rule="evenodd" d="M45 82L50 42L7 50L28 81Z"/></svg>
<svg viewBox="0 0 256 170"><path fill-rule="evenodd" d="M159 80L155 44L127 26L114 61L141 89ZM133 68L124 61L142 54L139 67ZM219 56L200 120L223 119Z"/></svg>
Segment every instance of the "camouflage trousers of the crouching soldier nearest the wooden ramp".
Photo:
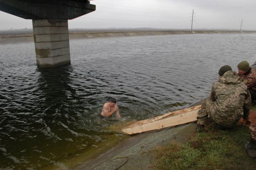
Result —
<svg viewBox="0 0 256 170"><path fill-rule="evenodd" d="M197 112L197 124L205 124L208 117L213 117L214 112L214 101L209 98L203 100L201 109Z"/></svg>

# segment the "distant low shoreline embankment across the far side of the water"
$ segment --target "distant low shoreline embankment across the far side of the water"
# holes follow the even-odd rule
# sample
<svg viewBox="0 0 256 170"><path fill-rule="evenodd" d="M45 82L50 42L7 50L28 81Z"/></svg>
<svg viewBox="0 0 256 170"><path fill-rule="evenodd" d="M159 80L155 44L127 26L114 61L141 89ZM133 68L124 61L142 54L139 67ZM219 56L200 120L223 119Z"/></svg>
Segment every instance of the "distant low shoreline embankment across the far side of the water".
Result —
<svg viewBox="0 0 256 170"><path fill-rule="evenodd" d="M70 31L69 38L88 39L118 36L145 36L145 35L178 35L178 34L252 34L256 31L238 31L238 30L101 30L101 31ZM20 43L34 41L33 34L2 34L0 35L0 44Z"/></svg>

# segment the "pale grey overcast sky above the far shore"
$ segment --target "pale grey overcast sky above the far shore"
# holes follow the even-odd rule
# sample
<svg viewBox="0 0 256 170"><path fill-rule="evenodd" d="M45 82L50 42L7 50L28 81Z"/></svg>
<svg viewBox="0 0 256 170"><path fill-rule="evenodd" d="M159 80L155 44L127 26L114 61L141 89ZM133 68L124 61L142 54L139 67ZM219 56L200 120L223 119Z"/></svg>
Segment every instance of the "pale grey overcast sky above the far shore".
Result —
<svg viewBox="0 0 256 170"><path fill-rule="evenodd" d="M256 29L256 0L92 0L96 11L69 28ZM0 11L0 30L32 28L32 21Z"/></svg>

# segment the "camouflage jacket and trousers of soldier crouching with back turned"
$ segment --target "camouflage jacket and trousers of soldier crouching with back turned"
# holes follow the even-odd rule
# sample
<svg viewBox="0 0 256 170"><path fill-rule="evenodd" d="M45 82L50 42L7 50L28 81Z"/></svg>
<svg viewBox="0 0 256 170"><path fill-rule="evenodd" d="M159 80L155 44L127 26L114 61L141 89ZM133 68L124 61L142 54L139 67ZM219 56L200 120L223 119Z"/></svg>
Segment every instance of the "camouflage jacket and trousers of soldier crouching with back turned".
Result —
<svg viewBox="0 0 256 170"><path fill-rule="evenodd" d="M233 127L241 117L248 118L250 92L235 71L227 71L212 85L211 94L202 102L198 111L197 124L205 124L208 117L216 123Z"/></svg>

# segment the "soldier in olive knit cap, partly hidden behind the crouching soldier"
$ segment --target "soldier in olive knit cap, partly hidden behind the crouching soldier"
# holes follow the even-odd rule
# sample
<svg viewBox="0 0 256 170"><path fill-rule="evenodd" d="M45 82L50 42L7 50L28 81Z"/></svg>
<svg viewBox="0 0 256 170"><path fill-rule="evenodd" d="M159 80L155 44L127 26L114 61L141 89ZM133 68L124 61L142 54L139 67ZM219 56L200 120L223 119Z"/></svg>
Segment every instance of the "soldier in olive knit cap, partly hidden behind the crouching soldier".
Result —
<svg viewBox="0 0 256 170"><path fill-rule="evenodd" d="M238 76L249 89L251 100L256 100L256 71L250 67L247 61L238 64Z"/></svg>

